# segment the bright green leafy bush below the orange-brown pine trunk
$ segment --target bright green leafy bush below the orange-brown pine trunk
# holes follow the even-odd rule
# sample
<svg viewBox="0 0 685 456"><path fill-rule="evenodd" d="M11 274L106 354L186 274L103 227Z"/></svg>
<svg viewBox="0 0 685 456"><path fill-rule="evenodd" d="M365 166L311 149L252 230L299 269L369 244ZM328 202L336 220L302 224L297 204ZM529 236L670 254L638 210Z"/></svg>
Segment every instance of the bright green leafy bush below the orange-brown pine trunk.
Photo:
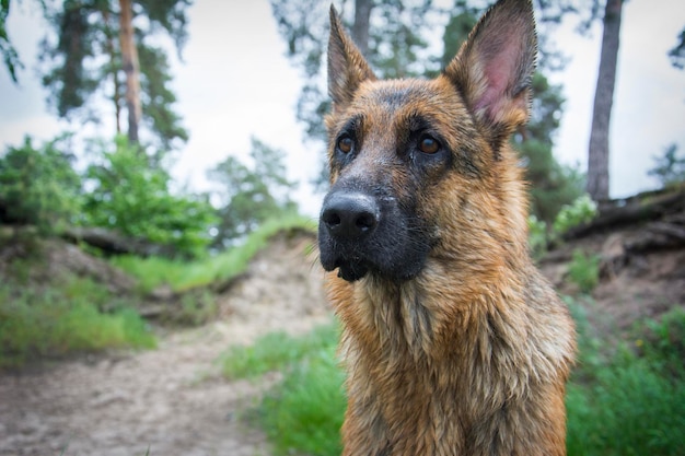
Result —
<svg viewBox="0 0 685 456"><path fill-rule="evenodd" d="M171 245L185 256L204 252L216 221L207 198L172 195L165 171L152 167L124 137L115 147L107 151L103 145L100 163L86 172L93 189L85 195L83 224Z"/></svg>

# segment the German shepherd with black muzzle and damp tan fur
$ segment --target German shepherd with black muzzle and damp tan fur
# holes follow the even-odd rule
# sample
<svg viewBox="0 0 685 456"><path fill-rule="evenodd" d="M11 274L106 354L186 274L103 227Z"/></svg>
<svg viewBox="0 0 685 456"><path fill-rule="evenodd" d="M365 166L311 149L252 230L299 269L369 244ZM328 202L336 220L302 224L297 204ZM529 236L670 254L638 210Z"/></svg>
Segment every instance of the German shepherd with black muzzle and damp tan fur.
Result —
<svg viewBox="0 0 685 456"><path fill-rule="evenodd" d="M565 455L568 311L527 252L510 136L529 117L530 0L501 0L432 80L378 80L332 7L330 190L344 455Z"/></svg>

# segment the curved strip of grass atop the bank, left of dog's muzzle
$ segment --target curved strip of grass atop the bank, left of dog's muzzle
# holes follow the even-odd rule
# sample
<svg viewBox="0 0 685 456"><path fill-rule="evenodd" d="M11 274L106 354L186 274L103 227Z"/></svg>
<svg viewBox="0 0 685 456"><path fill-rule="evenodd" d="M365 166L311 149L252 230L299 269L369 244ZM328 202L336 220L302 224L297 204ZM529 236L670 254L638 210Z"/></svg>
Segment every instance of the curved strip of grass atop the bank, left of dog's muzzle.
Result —
<svg viewBox="0 0 685 456"><path fill-rule="evenodd" d="M224 282L247 269L249 260L279 232L295 229L314 230L311 220L301 215L287 215L263 223L239 246L219 255L194 261L170 260L166 258L136 256L115 257L112 262L138 280L142 292L167 284L175 292L184 292L199 287Z"/></svg>

